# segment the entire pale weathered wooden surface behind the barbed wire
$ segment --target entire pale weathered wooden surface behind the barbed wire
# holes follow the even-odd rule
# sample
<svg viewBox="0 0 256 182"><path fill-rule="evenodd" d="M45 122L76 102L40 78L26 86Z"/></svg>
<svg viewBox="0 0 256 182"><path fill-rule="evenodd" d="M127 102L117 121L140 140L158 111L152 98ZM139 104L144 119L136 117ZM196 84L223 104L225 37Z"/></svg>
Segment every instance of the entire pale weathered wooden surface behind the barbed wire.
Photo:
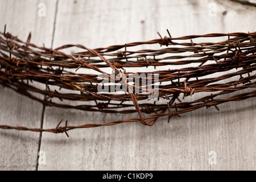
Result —
<svg viewBox="0 0 256 182"><path fill-rule="evenodd" d="M38 16L38 4L46 16ZM251 0L253 2L253 0ZM215 3L216 16L209 16ZM0 0L0 29L31 42L106 47L172 36L256 31L256 7L233 1L10 1ZM239 25L238 25L239 24ZM70 49L68 51L76 51ZM0 88L0 124L52 128L108 122L137 114L102 114L46 107ZM151 127L124 123L65 134L0 130L1 170L255 170L255 98L161 118ZM38 163L38 152L46 163ZM216 164L210 164L210 151Z"/></svg>

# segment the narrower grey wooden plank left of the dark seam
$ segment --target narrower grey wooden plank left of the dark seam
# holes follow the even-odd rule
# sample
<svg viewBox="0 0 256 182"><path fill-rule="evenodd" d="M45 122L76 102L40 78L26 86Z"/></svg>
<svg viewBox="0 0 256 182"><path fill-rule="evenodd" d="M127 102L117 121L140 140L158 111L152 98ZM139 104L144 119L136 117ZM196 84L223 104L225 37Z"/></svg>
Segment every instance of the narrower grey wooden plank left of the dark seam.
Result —
<svg viewBox="0 0 256 182"><path fill-rule="evenodd" d="M47 6L46 17L38 16L38 4ZM56 1L0 1L0 30L26 41L51 46ZM35 84L35 83L34 83ZM39 85L38 85L39 86ZM43 106L13 90L0 87L0 125L40 127ZM0 170L36 170L39 133L0 131Z"/></svg>

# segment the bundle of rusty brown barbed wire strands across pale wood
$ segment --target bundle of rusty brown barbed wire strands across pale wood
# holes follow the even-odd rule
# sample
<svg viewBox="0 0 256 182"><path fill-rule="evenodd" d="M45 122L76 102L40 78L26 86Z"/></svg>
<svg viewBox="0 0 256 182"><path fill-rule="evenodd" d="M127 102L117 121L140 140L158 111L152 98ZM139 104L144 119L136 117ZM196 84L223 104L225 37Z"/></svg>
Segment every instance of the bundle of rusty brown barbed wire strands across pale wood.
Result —
<svg viewBox="0 0 256 182"><path fill-rule="evenodd" d="M172 38L170 32L168 30L167 32L169 37L163 38L158 33L160 39L96 49L89 49L79 44L67 44L55 49L39 47L30 43L31 34L27 42L22 42L6 30L0 32L0 84L3 86L30 97L44 106L102 113L138 113L139 116L80 126L68 126L66 121L65 126L60 126L60 122L55 129L29 129L7 125L1 125L0 129L47 131L65 133L68 136L69 130L110 126L122 122L140 121L143 125L152 126L160 117L168 116L170 122L171 117L180 117L182 113L201 107L214 106L219 110L217 107L219 104L256 96L256 90L251 90L256 87L254 73L256 32L190 35L180 38ZM192 40L217 37L222 37L224 40L213 43L196 43ZM130 47L145 44L148 46L159 44L160 47L165 47L129 51ZM84 51L71 54L63 52L63 49L71 47ZM163 66L171 69L158 69ZM126 69L147 70L148 67L154 67L155 71L136 73L146 75L151 73L153 80L157 75L160 83L157 90L154 82L145 88L141 82L139 85L131 86L126 79L125 93L99 93L97 90L101 82L98 79L100 74L107 75L108 81L113 79L113 74L103 71L103 68L112 68L114 75L124 74L128 77L134 72ZM78 70L81 73L77 73ZM212 77L214 73L218 73L218 76ZM116 84L115 78L114 81ZM43 84L44 88L39 88L35 82ZM59 90L52 89L53 86ZM134 93L133 88L144 90L146 93ZM236 93L241 90L242 93ZM158 100L152 104L147 99L156 91ZM199 98L185 101L185 97L194 94ZM43 95L45 99L38 95ZM86 104L69 105L65 104L67 102L63 103L64 100L84 101ZM143 116L143 113L150 115Z"/></svg>

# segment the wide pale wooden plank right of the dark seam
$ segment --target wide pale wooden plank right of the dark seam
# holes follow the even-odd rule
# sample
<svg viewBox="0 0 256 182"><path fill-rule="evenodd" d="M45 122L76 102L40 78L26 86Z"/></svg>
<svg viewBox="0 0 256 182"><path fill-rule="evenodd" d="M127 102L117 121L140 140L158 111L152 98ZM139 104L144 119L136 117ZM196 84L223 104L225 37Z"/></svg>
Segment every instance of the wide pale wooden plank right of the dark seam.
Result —
<svg viewBox="0 0 256 182"><path fill-rule="evenodd" d="M216 16L209 16L212 2ZM255 31L255 12L255 7L222 1L60 1L53 47L77 43L96 48L150 40L158 38L157 31L166 34L166 28L172 36ZM161 118L152 127L126 123L73 130L71 138L43 133L40 150L47 160L39 169L255 169L255 101L223 104L221 111L200 109L172 118L171 123ZM43 127L56 127L60 119L81 125L130 117L137 114L47 107ZM216 152L216 165L208 162L210 151Z"/></svg>

